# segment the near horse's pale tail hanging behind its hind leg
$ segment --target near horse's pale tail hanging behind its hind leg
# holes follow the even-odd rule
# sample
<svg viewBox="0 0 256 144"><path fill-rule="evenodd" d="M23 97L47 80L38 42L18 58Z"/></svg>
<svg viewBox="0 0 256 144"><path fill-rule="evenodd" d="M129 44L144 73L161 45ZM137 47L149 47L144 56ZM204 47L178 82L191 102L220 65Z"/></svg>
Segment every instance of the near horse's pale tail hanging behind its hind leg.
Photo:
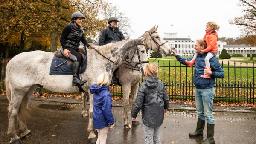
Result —
<svg viewBox="0 0 256 144"><path fill-rule="evenodd" d="M5 78L5 85L6 85L6 95L7 95L7 99L9 101L9 103L11 103L11 89L9 87L9 79L8 79L8 76L6 75L6 78ZM28 103L28 96L27 96L27 93L25 94L24 98L22 99L22 102L20 104L20 109L19 109L19 113L21 115L23 115L23 117L25 119L28 119L31 117L29 111L30 109L27 107L27 103ZM9 107L8 107L8 111L9 109L11 109L11 104L9 104Z"/></svg>

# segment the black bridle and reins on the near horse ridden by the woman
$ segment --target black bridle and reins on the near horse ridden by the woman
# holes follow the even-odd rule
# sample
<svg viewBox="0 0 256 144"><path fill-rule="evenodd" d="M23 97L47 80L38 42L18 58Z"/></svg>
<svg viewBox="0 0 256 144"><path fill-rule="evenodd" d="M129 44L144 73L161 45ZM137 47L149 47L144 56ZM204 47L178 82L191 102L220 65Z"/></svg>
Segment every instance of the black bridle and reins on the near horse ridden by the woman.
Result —
<svg viewBox="0 0 256 144"><path fill-rule="evenodd" d="M143 45L143 46L144 46L144 44L138 44L138 45ZM103 58L106 58L107 60L111 61L112 63L115 63L115 64L118 65L118 66L122 66L122 65L120 65L120 64L118 64L118 63L116 63L116 62L110 60L109 58L105 57L104 55L102 55L97 49L95 49L95 48L93 48L93 49L94 49L96 52L98 52L99 55L101 55ZM134 68L137 68L136 66L139 65L139 64L148 63L148 60L147 60L147 61L141 61L141 60L140 60L139 48L138 48L138 47L136 48L136 50L134 50L134 54L132 55L131 60L134 58L135 52L137 52L139 62L136 63L135 66L131 66L131 65L127 64L127 63L124 63L124 64L126 64L126 65L128 65L128 66L131 66L131 68L130 68L130 67L126 67L126 66L122 66L122 67L125 67L125 68L128 68L128 69L132 69L132 70L140 71L139 69L134 69Z"/></svg>

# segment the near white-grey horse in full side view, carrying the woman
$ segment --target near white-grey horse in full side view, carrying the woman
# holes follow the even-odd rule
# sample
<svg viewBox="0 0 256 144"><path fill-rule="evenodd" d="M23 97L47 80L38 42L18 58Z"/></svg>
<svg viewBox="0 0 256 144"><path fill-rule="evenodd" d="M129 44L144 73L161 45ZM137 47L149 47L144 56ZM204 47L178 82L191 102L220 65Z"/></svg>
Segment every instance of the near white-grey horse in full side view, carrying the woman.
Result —
<svg viewBox="0 0 256 144"><path fill-rule="evenodd" d="M88 92L89 87L92 84L96 84L96 78L100 73L108 72L111 77L112 72L126 59L130 59L133 63L140 63L140 60L147 61L145 48L138 47L140 43L143 43L143 38L124 40L96 48L105 58L94 49L87 49L87 69L82 74L82 77L87 79L87 83L82 86L84 91ZM7 134L11 139L11 144L21 144L20 137L17 136L15 130L16 122L22 133L22 138L32 136L32 132L26 126L27 108L32 94L38 85L53 92L79 92L77 86L72 86L72 75L49 75L53 57L54 54L50 52L23 52L12 58L6 66L5 84L9 100L9 127ZM142 69L145 67L145 64L138 64L137 68ZM89 93L89 95L88 139L95 142L96 135L93 131L93 94Z"/></svg>

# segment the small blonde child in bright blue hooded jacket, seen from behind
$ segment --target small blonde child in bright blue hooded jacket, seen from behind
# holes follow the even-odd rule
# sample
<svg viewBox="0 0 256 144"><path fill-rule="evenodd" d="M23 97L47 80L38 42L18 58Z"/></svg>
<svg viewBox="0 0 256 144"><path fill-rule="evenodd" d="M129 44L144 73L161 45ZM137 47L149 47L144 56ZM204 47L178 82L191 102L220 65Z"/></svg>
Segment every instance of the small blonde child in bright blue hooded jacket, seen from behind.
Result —
<svg viewBox="0 0 256 144"><path fill-rule="evenodd" d="M108 73L102 73L97 78L97 84L90 87L90 93L93 94L93 126L98 132L96 144L106 144L108 126L114 128L109 84Z"/></svg>

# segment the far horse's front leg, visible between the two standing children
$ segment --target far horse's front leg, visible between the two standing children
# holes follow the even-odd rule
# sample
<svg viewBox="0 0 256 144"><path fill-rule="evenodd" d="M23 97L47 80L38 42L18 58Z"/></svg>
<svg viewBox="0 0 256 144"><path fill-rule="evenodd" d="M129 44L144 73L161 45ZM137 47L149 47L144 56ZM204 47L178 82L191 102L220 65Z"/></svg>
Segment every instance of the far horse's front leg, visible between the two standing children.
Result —
<svg viewBox="0 0 256 144"><path fill-rule="evenodd" d="M130 129L131 124L128 120L128 106L129 106L129 95L130 95L130 86L128 85L122 85L122 90L123 90L123 105L124 105L124 114L123 114L123 119L124 119L124 127L125 129Z"/></svg>

